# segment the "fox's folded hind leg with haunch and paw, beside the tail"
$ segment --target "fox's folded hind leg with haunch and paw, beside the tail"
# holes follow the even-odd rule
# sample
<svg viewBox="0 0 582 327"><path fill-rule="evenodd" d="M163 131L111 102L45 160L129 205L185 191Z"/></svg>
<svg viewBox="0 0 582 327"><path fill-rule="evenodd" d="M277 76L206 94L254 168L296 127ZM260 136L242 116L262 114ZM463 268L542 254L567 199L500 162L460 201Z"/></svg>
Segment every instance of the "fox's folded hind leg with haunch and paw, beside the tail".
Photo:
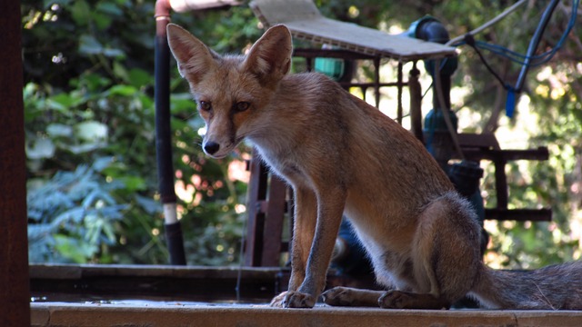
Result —
<svg viewBox="0 0 582 327"><path fill-rule="evenodd" d="M429 203L418 218L411 248L414 282L382 295L383 308L442 309L462 298L480 267L480 227L473 209L457 193Z"/></svg>

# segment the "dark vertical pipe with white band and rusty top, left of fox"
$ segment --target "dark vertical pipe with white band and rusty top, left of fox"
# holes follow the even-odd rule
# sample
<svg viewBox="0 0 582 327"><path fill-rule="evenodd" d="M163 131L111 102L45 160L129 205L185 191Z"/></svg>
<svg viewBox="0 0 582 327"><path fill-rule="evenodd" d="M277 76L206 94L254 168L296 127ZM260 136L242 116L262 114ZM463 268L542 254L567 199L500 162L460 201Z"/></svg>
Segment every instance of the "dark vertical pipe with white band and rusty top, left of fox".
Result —
<svg viewBox="0 0 582 327"><path fill-rule="evenodd" d="M158 187L164 205L166 243L170 263L186 265L182 227L176 215L172 134L170 129L170 48L166 25L170 22L170 4L156 1L156 157Z"/></svg>

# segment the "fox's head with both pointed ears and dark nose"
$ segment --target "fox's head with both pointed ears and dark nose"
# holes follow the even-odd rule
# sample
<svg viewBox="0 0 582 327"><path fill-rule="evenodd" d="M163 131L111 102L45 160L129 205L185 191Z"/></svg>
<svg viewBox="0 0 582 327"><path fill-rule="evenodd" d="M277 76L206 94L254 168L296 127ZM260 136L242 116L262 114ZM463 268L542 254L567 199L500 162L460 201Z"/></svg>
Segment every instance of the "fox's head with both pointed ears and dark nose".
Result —
<svg viewBox="0 0 582 327"><path fill-rule="evenodd" d="M268 29L246 55L216 54L174 24L167 25L167 39L206 123L204 152L223 158L243 139L259 134L261 112L291 64L286 26Z"/></svg>

